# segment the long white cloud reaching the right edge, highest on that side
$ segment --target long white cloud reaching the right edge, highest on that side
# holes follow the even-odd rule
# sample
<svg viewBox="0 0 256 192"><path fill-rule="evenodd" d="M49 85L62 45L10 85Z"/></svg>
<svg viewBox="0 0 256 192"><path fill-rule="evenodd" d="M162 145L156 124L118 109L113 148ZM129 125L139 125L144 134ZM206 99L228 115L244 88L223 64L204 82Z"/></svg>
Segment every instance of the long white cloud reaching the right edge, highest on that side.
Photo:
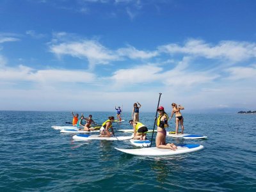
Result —
<svg viewBox="0 0 256 192"><path fill-rule="evenodd" d="M189 54L237 62L256 57L256 44L249 42L221 41L218 45L211 45L202 40L189 40L183 47L177 44L168 44L159 46L158 49L170 54Z"/></svg>

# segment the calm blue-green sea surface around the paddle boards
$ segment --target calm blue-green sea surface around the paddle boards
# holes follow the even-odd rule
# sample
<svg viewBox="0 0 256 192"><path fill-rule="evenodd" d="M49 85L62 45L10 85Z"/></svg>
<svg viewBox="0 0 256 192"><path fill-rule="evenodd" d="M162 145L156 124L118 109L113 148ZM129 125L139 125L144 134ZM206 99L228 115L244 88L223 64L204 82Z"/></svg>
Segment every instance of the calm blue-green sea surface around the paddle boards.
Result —
<svg viewBox="0 0 256 192"><path fill-rule="evenodd" d="M91 114L101 124L115 111ZM140 121L152 129L154 115L140 113ZM183 116L186 133L208 139L167 141L203 150L139 157L115 150L133 148L129 141L73 141L52 129L72 120L69 111L0 111L0 191L256 191L256 115ZM115 129L131 129L131 113L122 118Z"/></svg>

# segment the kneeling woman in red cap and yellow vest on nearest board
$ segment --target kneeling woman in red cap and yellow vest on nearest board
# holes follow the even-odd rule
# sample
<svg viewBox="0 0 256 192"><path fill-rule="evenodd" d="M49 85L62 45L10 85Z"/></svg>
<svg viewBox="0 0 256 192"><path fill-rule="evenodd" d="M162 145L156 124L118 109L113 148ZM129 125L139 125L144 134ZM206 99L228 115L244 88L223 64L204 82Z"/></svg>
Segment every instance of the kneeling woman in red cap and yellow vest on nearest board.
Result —
<svg viewBox="0 0 256 192"><path fill-rule="evenodd" d="M157 148L170 148L176 150L177 147L173 143L166 143L166 130L168 127L168 115L164 112L164 107L157 108L159 116L157 118L157 135L156 135L156 147Z"/></svg>

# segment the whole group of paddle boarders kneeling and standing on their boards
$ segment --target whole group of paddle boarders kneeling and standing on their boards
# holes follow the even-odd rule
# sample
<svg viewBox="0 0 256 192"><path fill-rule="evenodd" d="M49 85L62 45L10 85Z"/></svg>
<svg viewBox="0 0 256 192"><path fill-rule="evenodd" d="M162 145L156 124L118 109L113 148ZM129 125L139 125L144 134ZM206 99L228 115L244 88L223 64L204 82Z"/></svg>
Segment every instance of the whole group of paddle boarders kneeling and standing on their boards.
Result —
<svg viewBox="0 0 256 192"><path fill-rule="evenodd" d="M134 129L134 140L145 140L146 135L148 132L148 128L143 125L140 122L139 118L139 113L140 113L140 108L141 104L139 102L134 103L134 107L132 109L132 120L129 121L129 124L132 125ZM121 112L122 109L120 107L116 108L116 117L120 121L122 120L121 118ZM173 115L175 115L175 123L176 123L176 129L175 129L175 134L178 134L179 130L179 124L181 126L181 134L184 133L184 125L183 125L183 120L184 118L182 117L180 110L184 109L184 107L172 103L172 113L170 115L170 118L168 117L167 113L164 111L163 106L159 106L157 108L157 113L158 113L158 118L156 119L156 125L157 125L157 135L156 135L156 147L157 148L170 148L172 150L176 150L177 146L174 145L173 143L166 143L166 128L169 127L168 122L172 119ZM93 131L92 127L90 127L91 124L95 124L95 122L92 120L92 115L89 115L88 118L84 118L83 114L81 115L81 118L78 118L78 114L73 115L73 125L77 125L77 127L84 127L85 131ZM82 121L86 120L86 124L83 125ZM109 116L108 120L106 120L101 128L100 128L100 135L99 136L115 136L113 127L112 127L112 122L115 121L114 116ZM111 131L111 132L110 132Z"/></svg>

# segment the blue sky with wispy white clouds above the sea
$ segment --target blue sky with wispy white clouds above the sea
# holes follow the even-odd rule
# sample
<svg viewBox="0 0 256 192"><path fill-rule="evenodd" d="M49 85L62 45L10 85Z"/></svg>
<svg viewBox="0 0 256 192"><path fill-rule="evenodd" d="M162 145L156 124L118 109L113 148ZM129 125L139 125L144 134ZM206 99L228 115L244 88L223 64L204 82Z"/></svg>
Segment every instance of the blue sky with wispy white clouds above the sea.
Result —
<svg viewBox="0 0 256 192"><path fill-rule="evenodd" d="M0 110L255 109L256 1L2 0ZM115 109L114 109L115 110Z"/></svg>

